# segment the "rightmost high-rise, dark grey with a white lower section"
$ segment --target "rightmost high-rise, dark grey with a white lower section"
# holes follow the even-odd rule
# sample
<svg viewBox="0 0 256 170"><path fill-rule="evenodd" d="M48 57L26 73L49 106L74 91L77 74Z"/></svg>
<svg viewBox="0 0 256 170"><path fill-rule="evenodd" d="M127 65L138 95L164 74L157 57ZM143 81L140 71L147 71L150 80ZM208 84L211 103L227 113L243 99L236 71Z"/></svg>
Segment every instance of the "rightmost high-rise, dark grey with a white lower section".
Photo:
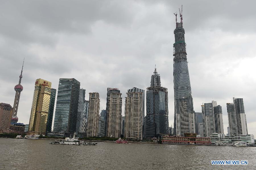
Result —
<svg viewBox="0 0 256 170"><path fill-rule="evenodd" d="M243 106L243 99L242 98L235 98L234 100L234 107L235 107L235 114L236 114L236 126L237 126L237 133L238 135L247 135L247 122L246 116Z"/></svg>

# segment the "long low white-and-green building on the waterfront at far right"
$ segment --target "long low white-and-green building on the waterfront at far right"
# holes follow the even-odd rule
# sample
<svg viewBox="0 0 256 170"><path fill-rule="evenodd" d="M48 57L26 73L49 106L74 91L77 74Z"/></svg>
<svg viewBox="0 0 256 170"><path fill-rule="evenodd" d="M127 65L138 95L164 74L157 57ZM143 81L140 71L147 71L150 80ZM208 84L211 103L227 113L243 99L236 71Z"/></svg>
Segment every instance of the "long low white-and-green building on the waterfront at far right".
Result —
<svg viewBox="0 0 256 170"><path fill-rule="evenodd" d="M213 133L211 136L211 144L215 145L216 142L233 143L233 142L246 142L247 144L254 143L254 135L225 135L220 133Z"/></svg>

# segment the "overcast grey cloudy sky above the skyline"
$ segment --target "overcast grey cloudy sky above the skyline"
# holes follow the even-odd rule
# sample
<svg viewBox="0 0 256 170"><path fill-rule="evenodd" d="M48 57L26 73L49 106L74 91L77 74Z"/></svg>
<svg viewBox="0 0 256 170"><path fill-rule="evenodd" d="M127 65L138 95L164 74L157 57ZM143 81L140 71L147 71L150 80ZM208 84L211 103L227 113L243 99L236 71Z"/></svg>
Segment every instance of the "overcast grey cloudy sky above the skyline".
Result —
<svg viewBox="0 0 256 170"><path fill-rule="evenodd" d="M107 87L119 88L124 102L127 89L150 86L156 64L173 125L173 13L181 5L194 110L217 101L227 133L226 103L243 98L256 135L254 1L1 1L0 102L13 105L23 58L17 116L26 124L37 78L56 89L59 78L76 78L87 100L100 93L105 109Z"/></svg>

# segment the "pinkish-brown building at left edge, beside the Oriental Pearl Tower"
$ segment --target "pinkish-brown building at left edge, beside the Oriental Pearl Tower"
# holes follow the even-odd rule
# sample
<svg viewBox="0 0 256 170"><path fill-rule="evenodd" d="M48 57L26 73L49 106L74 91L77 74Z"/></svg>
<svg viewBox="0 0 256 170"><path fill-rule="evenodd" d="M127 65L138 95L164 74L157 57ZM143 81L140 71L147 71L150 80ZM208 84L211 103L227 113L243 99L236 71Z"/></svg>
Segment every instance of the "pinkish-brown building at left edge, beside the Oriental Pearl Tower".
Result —
<svg viewBox="0 0 256 170"><path fill-rule="evenodd" d="M10 104L0 103L0 133L8 133L11 124L13 108Z"/></svg>

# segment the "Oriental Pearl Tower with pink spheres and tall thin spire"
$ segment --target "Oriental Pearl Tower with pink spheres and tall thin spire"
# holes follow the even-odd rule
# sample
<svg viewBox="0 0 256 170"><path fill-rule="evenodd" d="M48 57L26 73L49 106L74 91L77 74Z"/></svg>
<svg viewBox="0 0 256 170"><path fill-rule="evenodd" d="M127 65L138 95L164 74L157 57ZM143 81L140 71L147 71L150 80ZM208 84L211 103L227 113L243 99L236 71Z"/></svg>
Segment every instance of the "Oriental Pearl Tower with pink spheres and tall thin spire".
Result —
<svg viewBox="0 0 256 170"><path fill-rule="evenodd" d="M20 84L21 83L21 78L22 78L23 65L24 65L24 59L23 59L21 73L20 73L19 84L17 84L14 87L14 90L16 91L16 94L15 94L15 99L14 99L14 104L13 104L13 115L12 115L11 123L17 123L18 122L17 112L18 112L18 106L19 106L19 101L20 101L20 93L23 90L23 86Z"/></svg>

